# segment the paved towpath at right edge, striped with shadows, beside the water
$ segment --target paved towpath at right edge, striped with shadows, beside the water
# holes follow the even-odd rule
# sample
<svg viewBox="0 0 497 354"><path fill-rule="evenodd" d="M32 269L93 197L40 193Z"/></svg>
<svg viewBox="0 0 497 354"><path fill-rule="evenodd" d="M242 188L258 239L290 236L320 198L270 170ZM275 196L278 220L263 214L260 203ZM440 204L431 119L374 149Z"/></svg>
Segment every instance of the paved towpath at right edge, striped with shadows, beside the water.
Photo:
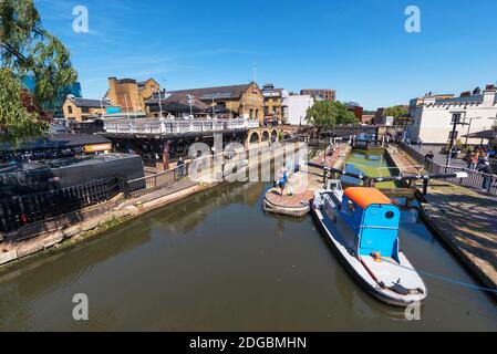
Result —
<svg viewBox="0 0 497 354"><path fill-rule="evenodd" d="M429 186L425 198L425 220L482 283L497 289L497 198L447 183Z"/></svg>

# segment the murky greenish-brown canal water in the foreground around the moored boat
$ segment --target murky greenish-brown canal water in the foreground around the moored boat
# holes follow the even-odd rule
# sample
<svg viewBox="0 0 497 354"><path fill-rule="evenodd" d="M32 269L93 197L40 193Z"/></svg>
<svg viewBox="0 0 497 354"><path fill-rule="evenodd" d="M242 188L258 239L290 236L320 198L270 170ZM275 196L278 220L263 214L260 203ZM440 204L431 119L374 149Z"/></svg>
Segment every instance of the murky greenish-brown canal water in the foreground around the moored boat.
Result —
<svg viewBox="0 0 497 354"><path fill-rule="evenodd" d="M311 217L265 215L263 184L190 197L0 277L0 330L497 330L479 291L425 278L422 321L364 293ZM416 215L401 247L415 267L473 283ZM72 320L86 293L90 321Z"/></svg>

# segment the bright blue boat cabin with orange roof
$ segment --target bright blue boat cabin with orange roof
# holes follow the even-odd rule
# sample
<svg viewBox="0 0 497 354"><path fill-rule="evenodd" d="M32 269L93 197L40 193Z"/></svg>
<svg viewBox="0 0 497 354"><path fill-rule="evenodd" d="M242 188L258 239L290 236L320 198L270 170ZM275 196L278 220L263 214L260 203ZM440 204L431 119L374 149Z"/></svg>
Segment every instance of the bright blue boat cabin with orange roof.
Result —
<svg viewBox="0 0 497 354"><path fill-rule="evenodd" d="M359 257L380 253L398 261L400 209L376 188L350 187L340 215L355 236Z"/></svg>

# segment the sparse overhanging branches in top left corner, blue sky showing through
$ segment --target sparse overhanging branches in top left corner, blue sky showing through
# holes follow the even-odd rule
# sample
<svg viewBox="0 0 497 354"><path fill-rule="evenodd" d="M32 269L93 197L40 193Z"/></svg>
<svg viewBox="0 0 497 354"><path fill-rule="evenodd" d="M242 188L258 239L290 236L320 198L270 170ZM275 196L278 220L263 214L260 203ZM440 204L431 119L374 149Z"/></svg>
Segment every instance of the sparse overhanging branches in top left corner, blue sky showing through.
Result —
<svg viewBox="0 0 497 354"><path fill-rule="evenodd" d="M77 80L68 50L43 29L32 0L0 1L0 51L1 67L9 67L18 80L34 77L33 98L46 112L56 108L61 87Z"/></svg>

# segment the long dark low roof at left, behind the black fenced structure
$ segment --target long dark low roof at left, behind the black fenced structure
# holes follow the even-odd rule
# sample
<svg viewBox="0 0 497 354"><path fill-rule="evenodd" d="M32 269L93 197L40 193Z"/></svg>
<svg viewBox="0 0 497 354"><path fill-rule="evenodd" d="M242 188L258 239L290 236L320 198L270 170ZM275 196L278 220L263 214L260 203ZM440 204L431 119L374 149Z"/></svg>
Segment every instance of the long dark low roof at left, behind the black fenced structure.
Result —
<svg viewBox="0 0 497 354"><path fill-rule="evenodd" d="M31 139L14 147L9 144L0 144L0 150L34 150L43 148L68 148L76 146L85 146L93 144L111 143L107 138L101 135L91 134L51 134L39 139Z"/></svg>

